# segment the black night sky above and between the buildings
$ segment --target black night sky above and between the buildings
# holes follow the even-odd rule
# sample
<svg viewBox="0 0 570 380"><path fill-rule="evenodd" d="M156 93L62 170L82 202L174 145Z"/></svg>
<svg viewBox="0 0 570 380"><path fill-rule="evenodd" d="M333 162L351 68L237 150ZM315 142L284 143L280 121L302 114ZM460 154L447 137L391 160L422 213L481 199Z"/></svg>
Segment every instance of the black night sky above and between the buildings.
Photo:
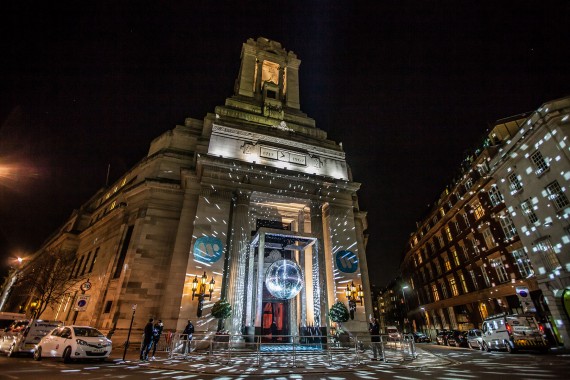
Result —
<svg viewBox="0 0 570 380"><path fill-rule="evenodd" d="M223 104L248 38L301 59L301 109L362 183L376 285L495 120L570 95L568 1L11 3L0 274L105 185L108 165L112 183L152 139Z"/></svg>

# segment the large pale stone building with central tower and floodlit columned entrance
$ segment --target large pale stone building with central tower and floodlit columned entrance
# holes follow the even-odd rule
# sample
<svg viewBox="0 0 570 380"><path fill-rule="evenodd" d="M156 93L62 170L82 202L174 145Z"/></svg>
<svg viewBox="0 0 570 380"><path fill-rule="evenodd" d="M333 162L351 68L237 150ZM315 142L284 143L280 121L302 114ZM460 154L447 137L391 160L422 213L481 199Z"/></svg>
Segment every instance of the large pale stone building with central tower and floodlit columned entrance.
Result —
<svg viewBox="0 0 570 380"><path fill-rule="evenodd" d="M329 308L348 304L354 283L363 305L345 327L367 330L360 184L341 145L300 109L300 63L278 42L244 43L234 95L152 141L144 159L37 252L71 252L70 276L91 285L42 317L121 336L137 305L135 329L154 317L167 330L181 331L190 319L197 331L215 332L211 307L226 299L232 333L264 333L276 321L289 335L329 326ZM14 288L3 310L26 311L33 300Z"/></svg>

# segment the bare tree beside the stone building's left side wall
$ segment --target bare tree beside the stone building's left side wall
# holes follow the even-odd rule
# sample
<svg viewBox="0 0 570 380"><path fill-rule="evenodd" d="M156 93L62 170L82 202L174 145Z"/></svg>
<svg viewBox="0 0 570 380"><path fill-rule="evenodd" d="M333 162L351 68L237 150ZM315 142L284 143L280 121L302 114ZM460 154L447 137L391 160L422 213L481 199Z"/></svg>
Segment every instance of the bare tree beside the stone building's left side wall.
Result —
<svg viewBox="0 0 570 380"><path fill-rule="evenodd" d="M39 318L48 306L53 308L84 279L74 274L74 269L75 255L61 251L43 251L23 268L18 285L37 302L34 318Z"/></svg>

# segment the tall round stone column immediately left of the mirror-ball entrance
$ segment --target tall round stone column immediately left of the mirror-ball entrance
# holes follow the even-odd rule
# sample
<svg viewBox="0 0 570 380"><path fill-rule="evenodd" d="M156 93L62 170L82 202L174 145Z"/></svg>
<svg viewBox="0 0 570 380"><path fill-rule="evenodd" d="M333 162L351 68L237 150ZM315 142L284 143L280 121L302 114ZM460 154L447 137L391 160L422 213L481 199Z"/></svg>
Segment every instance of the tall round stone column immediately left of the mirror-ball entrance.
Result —
<svg viewBox="0 0 570 380"><path fill-rule="evenodd" d="M230 255L230 281L228 299L232 305L233 334L242 333L245 308L245 268L249 247L249 198L251 193L239 191L232 222L232 247Z"/></svg>

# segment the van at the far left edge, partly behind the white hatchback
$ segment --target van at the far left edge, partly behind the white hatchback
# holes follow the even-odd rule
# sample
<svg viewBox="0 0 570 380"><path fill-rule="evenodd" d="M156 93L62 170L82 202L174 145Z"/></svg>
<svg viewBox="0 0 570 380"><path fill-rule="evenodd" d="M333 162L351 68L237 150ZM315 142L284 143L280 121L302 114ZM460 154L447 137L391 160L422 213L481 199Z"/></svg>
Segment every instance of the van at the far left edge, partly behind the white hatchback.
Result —
<svg viewBox="0 0 570 380"><path fill-rule="evenodd" d="M8 357L17 353L32 354L36 344L56 327L63 325L60 321L20 320L14 321L0 336L0 352Z"/></svg>

